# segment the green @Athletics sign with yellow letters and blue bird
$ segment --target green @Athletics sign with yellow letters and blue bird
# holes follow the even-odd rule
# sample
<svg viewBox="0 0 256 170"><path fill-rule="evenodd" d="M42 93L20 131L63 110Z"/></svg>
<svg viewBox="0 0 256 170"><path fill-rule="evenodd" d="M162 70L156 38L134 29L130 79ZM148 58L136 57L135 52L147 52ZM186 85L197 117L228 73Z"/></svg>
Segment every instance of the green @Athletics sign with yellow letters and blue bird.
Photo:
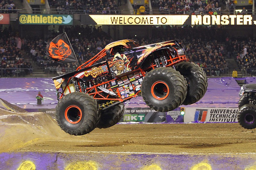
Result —
<svg viewBox="0 0 256 170"><path fill-rule="evenodd" d="M73 15L19 14L19 24L73 25Z"/></svg>

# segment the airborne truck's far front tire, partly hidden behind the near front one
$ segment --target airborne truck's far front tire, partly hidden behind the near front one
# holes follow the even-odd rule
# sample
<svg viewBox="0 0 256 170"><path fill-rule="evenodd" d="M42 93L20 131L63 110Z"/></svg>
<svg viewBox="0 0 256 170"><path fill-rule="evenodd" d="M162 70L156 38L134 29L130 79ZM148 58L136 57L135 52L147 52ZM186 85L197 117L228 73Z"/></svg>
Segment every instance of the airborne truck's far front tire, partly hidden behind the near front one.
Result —
<svg viewBox="0 0 256 170"><path fill-rule="evenodd" d="M204 96L208 86L204 70L190 62L180 62L175 65L175 69L184 76L188 83L188 93L182 104L188 105L199 101Z"/></svg>

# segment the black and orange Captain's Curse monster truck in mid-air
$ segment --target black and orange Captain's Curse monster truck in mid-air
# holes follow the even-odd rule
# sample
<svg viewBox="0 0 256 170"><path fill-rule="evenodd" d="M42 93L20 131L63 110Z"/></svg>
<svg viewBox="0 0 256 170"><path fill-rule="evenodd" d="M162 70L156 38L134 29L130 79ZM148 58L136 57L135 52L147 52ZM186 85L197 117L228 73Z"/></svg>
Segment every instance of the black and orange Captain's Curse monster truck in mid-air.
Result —
<svg viewBox="0 0 256 170"><path fill-rule="evenodd" d="M132 97L142 96L160 112L193 104L208 83L203 69L186 59L176 40L144 46L129 39L110 43L76 71L52 78L59 101L56 120L66 133L84 135L115 125Z"/></svg>

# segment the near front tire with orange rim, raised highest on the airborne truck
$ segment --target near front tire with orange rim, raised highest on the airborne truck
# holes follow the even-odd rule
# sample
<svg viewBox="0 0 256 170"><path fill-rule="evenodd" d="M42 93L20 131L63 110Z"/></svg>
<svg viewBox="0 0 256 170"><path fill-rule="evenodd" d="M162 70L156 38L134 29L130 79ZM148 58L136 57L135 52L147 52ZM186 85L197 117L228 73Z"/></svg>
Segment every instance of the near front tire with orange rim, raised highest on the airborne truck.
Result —
<svg viewBox="0 0 256 170"><path fill-rule="evenodd" d="M179 72L170 67L160 67L146 74L140 90L143 101L151 109L168 112L182 104L187 85Z"/></svg>

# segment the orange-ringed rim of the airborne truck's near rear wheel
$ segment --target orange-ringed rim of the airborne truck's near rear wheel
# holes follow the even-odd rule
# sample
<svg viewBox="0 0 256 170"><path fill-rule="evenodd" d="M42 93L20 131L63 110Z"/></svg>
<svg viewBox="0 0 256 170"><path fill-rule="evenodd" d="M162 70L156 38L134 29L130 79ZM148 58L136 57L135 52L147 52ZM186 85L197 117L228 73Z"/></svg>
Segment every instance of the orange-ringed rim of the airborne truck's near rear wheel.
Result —
<svg viewBox="0 0 256 170"><path fill-rule="evenodd" d="M65 110L65 118L68 123L79 123L82 119L82 111L75 105L68 106L68 108Z"/></svg>

